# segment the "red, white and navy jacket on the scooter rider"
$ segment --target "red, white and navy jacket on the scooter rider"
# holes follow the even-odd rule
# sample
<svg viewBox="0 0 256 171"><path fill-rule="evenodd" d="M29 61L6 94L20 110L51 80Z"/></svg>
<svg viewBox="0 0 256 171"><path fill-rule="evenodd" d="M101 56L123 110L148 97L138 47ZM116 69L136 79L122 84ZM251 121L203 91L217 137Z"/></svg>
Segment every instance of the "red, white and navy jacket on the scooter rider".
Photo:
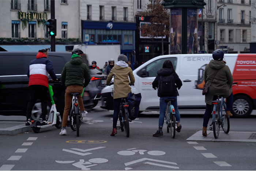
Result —
<svg viewBox="0 0 256 171"><path fill-rule="evenodd" d="M42 85L48 87L49 74L53 80L57 79L52 61L47 59L45 53L38 52L36 59L30 61L29 68L27 69L29 86Z"/></svg>

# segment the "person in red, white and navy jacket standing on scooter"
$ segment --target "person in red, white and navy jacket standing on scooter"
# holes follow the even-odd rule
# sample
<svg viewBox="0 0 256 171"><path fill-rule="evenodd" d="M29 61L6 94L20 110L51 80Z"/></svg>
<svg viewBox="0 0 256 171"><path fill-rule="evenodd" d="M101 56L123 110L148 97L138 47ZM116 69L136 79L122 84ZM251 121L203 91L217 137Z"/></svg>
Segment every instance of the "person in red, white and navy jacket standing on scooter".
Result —
<svg viewBox="0 0 256 171"><path fill-rule="evenodd" d="M25 125L31 125L31 111L37 99L41 101L42 107L42 125L50 124L46 120L47 114L47 90L48 90L48 77L52 77L57 81L57 76L53 69L52 61L47 59L48 52L45 49L39 50L36 59L30 61L29 68L27 69L27 76L29 77L30 100L27 104L27 120Z"/></svg>

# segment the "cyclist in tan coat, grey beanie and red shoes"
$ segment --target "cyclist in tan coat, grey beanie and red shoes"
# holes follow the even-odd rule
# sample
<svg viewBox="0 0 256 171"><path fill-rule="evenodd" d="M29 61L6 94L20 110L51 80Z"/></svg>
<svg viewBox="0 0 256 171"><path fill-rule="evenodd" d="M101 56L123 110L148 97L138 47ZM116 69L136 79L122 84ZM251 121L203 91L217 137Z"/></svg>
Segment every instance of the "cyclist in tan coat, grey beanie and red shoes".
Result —
<svg viewBox="0 0 256 171"><path fill-rule="evenodd" d="M127 56L121 54L117 58L117 63L114 65L114 67L111 69L108 78L107 78L107 85L110 85L110 81L112 80L112 77L114 76L114 114L113 114L113 131L110 134L110 136L114 136L117 134L116 130L116 124L118 120L118 113L119 113L119 107L121 103L121 98L128 97L128 94L132 92L131 87L129 86L129 83L131 81L131 85L134 84L135 78L132 73L132 68L128 67L128 64L126 63L128 61ZM129 78L130 81L129 81Z"/></svg>

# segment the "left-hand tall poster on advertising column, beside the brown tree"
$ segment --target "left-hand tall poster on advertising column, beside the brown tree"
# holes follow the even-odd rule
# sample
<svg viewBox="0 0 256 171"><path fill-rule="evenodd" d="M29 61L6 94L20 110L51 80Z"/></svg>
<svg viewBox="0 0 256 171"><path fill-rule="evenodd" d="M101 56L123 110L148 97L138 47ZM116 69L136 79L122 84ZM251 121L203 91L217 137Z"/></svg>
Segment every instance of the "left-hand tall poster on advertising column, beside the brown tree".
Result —
<svg viewBox="0 0 256 171"><path fill-rule="evenodd" d="M170 9L170 54L181 54L181 8Z"/></svg>

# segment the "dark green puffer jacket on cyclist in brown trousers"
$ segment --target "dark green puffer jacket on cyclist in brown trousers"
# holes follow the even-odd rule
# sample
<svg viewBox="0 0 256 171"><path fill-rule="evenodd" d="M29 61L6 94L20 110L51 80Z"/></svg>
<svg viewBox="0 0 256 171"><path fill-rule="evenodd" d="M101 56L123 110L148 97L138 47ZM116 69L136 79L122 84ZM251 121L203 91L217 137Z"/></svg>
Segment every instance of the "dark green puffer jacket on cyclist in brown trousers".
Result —
<svg viewBox="0 0 256 171"><path fill-rule="evenodd" d="M83 79L85 79L83 83ZM61 82L63 85L72 86L78 85L86 87L91 80L89 68L81 56L73 54L71 60L67 62L61 73Z"/></svg>

